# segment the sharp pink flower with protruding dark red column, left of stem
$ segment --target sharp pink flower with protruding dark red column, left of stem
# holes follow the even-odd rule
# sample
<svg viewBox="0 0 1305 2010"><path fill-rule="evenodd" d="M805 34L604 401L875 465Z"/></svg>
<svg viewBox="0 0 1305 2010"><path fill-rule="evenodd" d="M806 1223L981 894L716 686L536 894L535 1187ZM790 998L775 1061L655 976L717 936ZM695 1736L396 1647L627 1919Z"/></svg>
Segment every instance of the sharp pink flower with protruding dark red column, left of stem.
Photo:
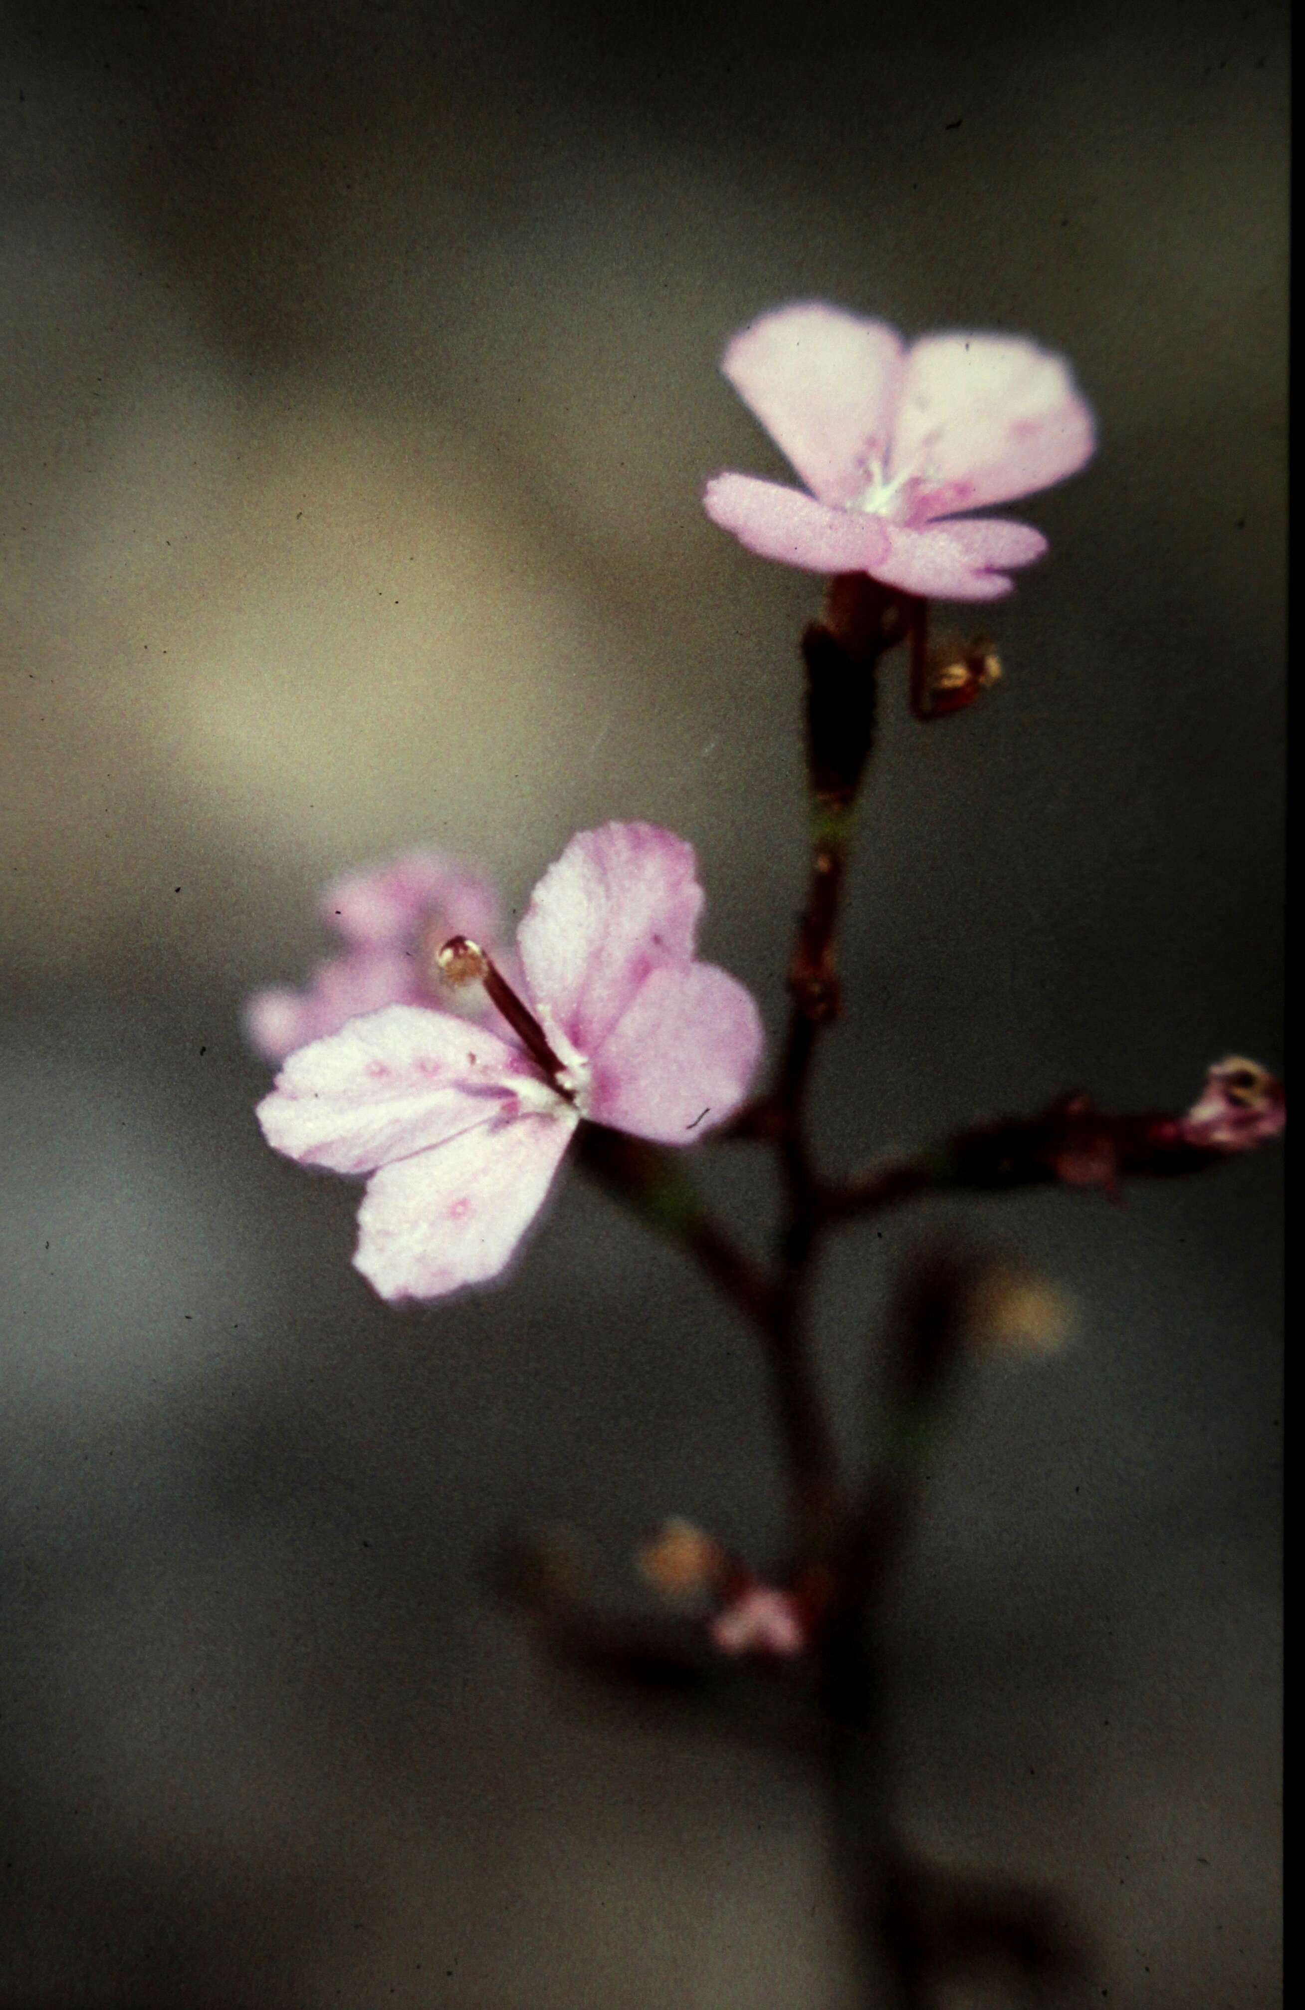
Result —
<svg viewBox="0 0 1305 2010"><path fill-rule="evenodd" d="M571 838L517 931L525 1001L475 945L505 1037L390 1005L292 1053L259 1103L304 1166L368 1176L356 1266L382 1298L497 1276L581 1122L694 1144L742 1103L762 1047L744 987L694 955L694 850L651 824Z"/></svg>

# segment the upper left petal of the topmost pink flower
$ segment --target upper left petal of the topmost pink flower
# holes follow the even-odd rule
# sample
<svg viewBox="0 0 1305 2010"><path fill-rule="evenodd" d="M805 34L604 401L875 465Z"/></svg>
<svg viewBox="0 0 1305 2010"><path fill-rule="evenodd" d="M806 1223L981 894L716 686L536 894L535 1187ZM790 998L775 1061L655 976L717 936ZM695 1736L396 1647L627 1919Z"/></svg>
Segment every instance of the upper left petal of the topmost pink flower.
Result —
<svg viewBox="0 0 1305 2010"><path fill-rule="evenodd" d="M734 336L722 370L822 502L851 502L887 458L901 338L885 322L796 301Z"/></svg>

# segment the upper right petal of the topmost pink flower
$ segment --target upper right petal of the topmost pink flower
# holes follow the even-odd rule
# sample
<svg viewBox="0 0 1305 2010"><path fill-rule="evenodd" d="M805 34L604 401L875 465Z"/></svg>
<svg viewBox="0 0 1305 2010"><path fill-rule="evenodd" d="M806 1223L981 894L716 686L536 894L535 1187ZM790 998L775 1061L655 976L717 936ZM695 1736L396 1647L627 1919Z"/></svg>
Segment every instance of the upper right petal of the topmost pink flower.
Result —
<svg viewBox="0 0 1305 2010"><path fill-rule="evenodd" d="M925 336L907 352L889 476L913 519L1048 488L1092 458L1096 428L1070 366L1009 336Z"/></svg>

